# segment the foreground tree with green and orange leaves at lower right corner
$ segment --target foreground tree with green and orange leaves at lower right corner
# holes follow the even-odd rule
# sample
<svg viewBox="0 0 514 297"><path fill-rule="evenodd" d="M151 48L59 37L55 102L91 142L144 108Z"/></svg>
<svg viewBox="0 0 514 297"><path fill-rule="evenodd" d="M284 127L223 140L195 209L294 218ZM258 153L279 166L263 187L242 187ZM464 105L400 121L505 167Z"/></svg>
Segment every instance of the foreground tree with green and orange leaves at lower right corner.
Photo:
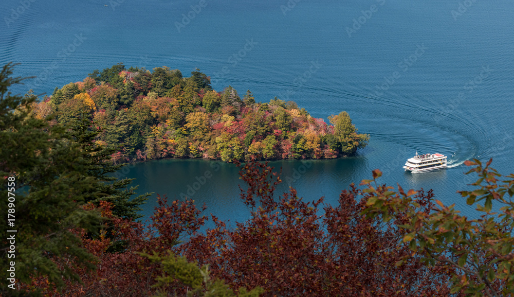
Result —
<svg viewBox="0 0 514 297"><path fill-rule="evenodd" d="M386 193L378 193L372 184L381 176L378 170L373 180L362 182L373 195L366 215L382 216L386 222L402 219L398 225L403 230L402 241L413 253L403 256L397 266L413 256L421 257L427 267L443 264L454 268L451 292L489 297L514 293L514 174L502 176L489 167L491 162L484 166L476 159L466 161L466 166L475 166L466 174L478 174L479 179L471 184L478 188L458 191L482 214L478 219L462 216L455 205L446 206L432 197L430 202L435 203L429 212L419 212L419 202L413 199L417 191L411 189L405 194L399 185L397 192L388 187ZM493 211L493 202L502 207Z"/></svg>

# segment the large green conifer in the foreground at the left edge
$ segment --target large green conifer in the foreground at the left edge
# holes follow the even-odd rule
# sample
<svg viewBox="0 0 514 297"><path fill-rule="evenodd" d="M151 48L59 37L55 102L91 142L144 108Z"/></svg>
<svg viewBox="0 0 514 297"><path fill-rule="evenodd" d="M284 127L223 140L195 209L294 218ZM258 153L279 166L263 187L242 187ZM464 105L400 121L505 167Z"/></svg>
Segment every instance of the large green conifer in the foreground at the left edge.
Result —
<svg viewBox="0 0 514 297"><path fill-rule="evenodd" d="M7 64L0 72L0 194L6 197L0 200L0 212L6 219L8 212L14 215L10 229L17 232L13 235L5 228L0 230L0 261L2 267L10 267L9 262L14 260L15 277L20 283L44 276L62 287L64 279L79 279L74 265L94 268L95 257L81 247L80 238L71 229L96 230L98 214L86 211L82 205L101 193L87 172L80 146L71 141L66 130L31 115L33 97L8 92L11 85L22 81L11 77L12 67ZM9 201L12 204L7 197L13 197ZM7 256L8 236L15 237L15 251L11 251L15 259ZM13 292L7 287L8 275L7 269L0 272L3 295Z"/></svg>

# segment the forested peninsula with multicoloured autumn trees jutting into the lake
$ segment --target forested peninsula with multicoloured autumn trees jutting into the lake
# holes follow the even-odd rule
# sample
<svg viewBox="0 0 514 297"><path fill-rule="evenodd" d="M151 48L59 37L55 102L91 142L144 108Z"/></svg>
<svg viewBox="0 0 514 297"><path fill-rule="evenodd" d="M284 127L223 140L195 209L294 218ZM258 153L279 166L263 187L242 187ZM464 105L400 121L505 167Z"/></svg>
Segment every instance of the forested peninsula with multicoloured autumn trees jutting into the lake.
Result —
<svg viewBox="0 0 514 297"><path fill-rule="evenodd" d="M150 72L118 63L56 88L34 105L37 117L54 115L54 123L87 116L101 131L97 145L119 147L116 163L333 159L355 153L369 140L346 112L330 116L327 124L293 101L255 102L250 90L241 98L231 86L216 92L199 69L183 77L178 69Z"/></svg>

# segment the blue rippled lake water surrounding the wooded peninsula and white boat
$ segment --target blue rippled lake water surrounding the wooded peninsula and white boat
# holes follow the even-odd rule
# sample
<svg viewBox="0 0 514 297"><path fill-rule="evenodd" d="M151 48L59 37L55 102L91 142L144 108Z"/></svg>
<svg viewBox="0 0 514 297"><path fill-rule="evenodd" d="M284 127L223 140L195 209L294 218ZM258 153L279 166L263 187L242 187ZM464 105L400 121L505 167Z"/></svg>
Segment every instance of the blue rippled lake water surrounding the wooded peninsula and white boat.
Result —
<svg viewBox="0 0 514 297"><path fill-rule="evenodd" d="M0 62L22 63L16 75L39 77L16 93L51 94L123 62L166 65L185 75L199 67L216 90L232 85L240 93L250 89L257 101L295 100L314 117L347 111L359 131L371 135L370 144L352 158L313 162L290 179L308 200L325 196L333 203L341 189L380 168L382 182L432 188L437 199L473 215L456 194L473 181L463 175L463 162L493 158L500 172L514 172L511 1L476 0L466 8L448 0L304 0L284 10L286 0L207 0L198 13L190 11L199 1L29 3L26 9L17 0L0 4ZM6 19L11 9L21 12L12 22ZM179 32L176 23L188 13L194 19ZM416 150L448 155L450 168L404 172L401 166ZM127 176L138 178L141 191L178 198L213 170L211 164L149 162ZM302 164L273 166L292 176ZM193 198L221 218L244 217L237 170L220 166ZM152 198L145 214L154 205Z"/></svg>

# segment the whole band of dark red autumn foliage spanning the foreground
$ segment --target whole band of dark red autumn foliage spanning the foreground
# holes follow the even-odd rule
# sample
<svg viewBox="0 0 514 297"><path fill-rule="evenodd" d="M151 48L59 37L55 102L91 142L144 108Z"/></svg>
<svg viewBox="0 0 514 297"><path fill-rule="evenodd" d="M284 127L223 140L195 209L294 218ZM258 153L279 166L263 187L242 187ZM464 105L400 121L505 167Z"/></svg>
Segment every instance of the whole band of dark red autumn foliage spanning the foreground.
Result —
<svg viewBox="0 0 514 297"><path fill-rule="evenodd" d="M351 185L343 190L338 205L323 205L323 199L306 202L295 189L277 197L279 174L265 163L242 165L245 182L241 199L250 219L227 228L212 217L214 227L199 232L207 220L191 200L159 198L150 225L122 220L102 203L105 228L99 235L77 231L84 247L98 262L92 273L76 268L83 284L68 281L58 293L45 279L34 279L32 287L46 295L147 296L186 295L186 278L168 277L149 259L183 256L198 267L208 267L210 276L236 292L262 288L262 296L448 296L453 268L425 266L403 243L403 223L384 223L361 214L371 194ZM385 186L377 189L386 191ZM419 212L432 206L432 193L420 191L414 198ZM150 258L152 258L150 257ZM395 264L404 259L402 265ZM176 260L175 260L176 261ZM191 276L192 277L192 276ZM160 284L158 288L154 285Z"/></svg>

